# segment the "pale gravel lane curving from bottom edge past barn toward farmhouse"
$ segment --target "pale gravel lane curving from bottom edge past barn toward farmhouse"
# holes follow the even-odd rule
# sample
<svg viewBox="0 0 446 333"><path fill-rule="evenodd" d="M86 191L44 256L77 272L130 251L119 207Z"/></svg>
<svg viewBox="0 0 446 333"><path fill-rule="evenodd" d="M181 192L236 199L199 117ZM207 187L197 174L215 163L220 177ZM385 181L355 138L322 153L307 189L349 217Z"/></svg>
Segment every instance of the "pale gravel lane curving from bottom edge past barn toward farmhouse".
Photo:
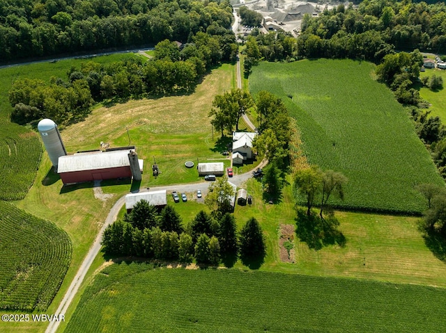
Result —
<svg viewBox="0 0 446 333"><path fill-rule="evenodd" d="M259 164L259 168L263 168L263 166L266 165L267 163L268 161L262 161ZM236 186L240 186L251 177L252 177L252 172L245 172L243 174L236 174L234 177L231 177L229 181L231 181L231 183L235 184ZM200 181L198 183L190 183L190 184L157 186L151 188L151 190L169 190L169 191L176 190L181 193L181 192L195 192L199 189L201 190L203 195L206 195L206 193L208 192L209 184L210 182ZM148 192L148 188L141 189L139 190L139 192ZM55 312L56 315L66 314L68 307L70 307L73 298L75 297L77 291L79 290L79 287L84 281L85 275L88 272L91 263L93 263L93 260L100 251L101 248L100 242L102 241L102 234L104 233L105 228L107 228L107 226L111 225L116 220L118 213L124 204L125 204L125 195L120 197L118 201L116 201L112 209L110 209L109 214L105 219L104 225L102 225L102 228L98 233L98 236L96 236L93 245L90 247L89 253L86 255L84 261L82 262L82 265L77 271L75 278L72 280L65 296L63 296L63 300L61 301L61 304L59 304L59 307ZM60 323L59 321L50 322L47 327L47 330L45 330L45 333L55 333L57 331L57 328L59 327L59 323Z"/></svg>

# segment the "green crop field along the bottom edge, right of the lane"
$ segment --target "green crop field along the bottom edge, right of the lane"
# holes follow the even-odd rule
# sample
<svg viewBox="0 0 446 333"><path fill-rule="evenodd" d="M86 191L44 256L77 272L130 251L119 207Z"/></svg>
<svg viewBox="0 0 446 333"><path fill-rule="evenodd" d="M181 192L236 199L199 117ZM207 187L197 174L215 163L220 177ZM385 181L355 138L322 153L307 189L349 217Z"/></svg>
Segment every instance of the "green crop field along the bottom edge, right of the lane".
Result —
<svg viewBox="0 0 446 333"><path fill-rule="evenodd" d="M64 332L439 332L445 302L429 286L121 263Z"/></svg>

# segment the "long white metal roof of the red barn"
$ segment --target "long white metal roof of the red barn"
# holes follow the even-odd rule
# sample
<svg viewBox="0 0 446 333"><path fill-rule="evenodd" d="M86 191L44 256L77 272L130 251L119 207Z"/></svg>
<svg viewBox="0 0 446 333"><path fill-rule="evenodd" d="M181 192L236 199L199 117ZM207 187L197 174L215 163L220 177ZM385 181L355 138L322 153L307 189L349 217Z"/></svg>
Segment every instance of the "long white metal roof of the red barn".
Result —
<svg viewBox="0 0 446 333"><path fill-rule="evenodd" d="M128 153L133 149L93 154L74 154L59 157L58 173L100 170L130 166Z"/></svg>

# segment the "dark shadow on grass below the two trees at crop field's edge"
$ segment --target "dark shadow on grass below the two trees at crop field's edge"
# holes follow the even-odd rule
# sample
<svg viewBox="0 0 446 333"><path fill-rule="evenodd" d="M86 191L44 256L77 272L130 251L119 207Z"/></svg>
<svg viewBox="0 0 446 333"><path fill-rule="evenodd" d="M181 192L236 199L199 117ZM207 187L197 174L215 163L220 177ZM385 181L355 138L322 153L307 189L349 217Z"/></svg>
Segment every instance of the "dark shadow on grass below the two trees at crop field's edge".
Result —
<svg viewBox="0 0 446 333"><path fill-rule="evenodd" d="M307 243L310 249L321 250L328 245L337 244L340 247L346 245L346 237L337 229L339 221L334 216L321 219L314 213L307 216L306 211L298 210L295 221L297 236L300 241Z"/></svg>

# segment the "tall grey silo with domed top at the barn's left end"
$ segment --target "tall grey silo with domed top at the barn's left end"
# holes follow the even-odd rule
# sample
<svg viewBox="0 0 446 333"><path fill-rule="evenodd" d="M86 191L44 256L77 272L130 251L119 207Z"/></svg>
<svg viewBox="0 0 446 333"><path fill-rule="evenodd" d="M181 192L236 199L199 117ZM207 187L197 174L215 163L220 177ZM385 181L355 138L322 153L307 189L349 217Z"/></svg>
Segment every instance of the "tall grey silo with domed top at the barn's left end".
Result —
<svg viewBox="0 0 446 333"><path fill-rule="evenodd" d="M43 119L38 123L37 129L47 149L49 159L54 167L57 167L59 156L65 156L67 151L63 145L61 134L59 133L59 129L57 129L56 123L51 119Z"/></svg>

